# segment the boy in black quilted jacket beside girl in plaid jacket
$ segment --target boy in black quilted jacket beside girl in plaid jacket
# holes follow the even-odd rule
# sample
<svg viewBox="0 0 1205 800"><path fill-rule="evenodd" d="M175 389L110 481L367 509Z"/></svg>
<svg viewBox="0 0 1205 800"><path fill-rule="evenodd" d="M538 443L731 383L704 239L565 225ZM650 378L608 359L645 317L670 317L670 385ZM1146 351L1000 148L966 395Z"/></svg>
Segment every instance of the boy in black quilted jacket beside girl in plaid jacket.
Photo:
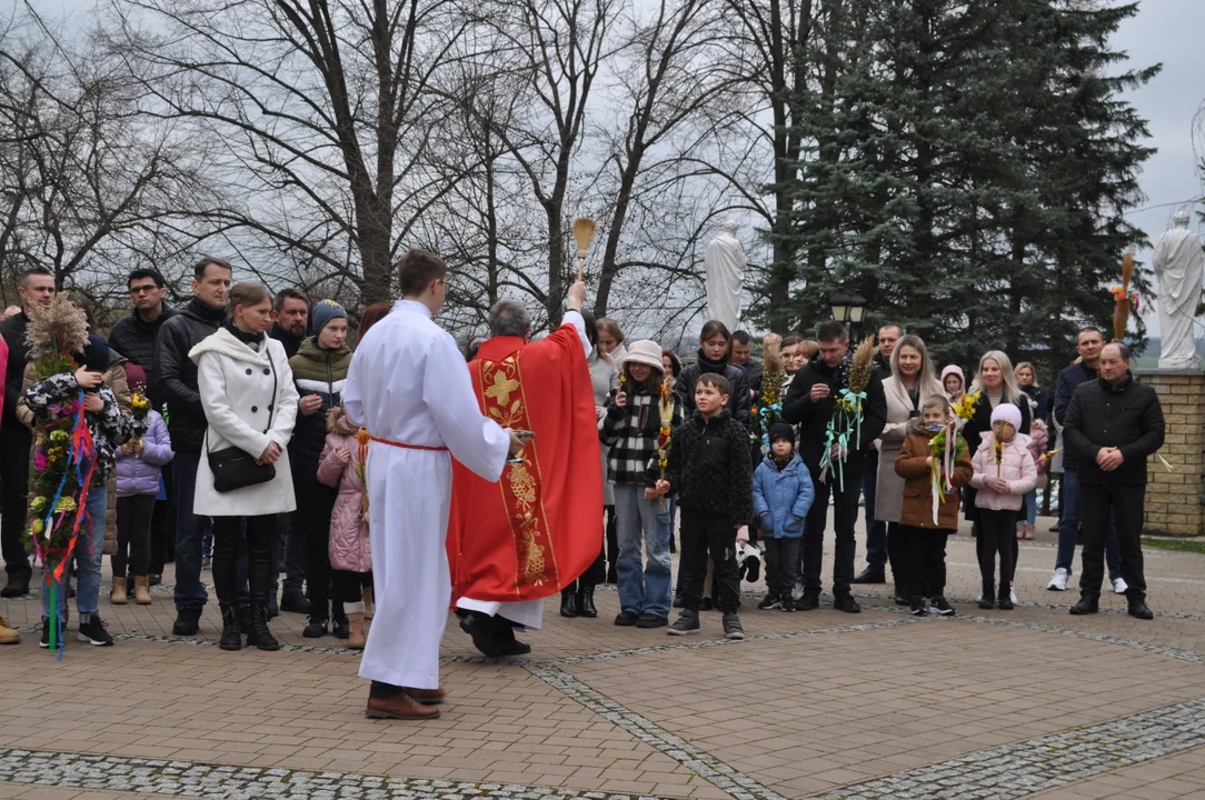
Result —
<svg viewBox="0 0 1205 800"><path fill-rule="evenodd" d="M699 631L699 602L707 573L707 555L716 563L718 605L724 636L745 639L736 614L740 578L736 542L748 542L753 516L753 467L748 431L725 408L728 381L712 372L694 387L695 412L674 429L666 480L657 482L663 496L677 493L682 510L682 614L670 625L671 636Z"/></svg>

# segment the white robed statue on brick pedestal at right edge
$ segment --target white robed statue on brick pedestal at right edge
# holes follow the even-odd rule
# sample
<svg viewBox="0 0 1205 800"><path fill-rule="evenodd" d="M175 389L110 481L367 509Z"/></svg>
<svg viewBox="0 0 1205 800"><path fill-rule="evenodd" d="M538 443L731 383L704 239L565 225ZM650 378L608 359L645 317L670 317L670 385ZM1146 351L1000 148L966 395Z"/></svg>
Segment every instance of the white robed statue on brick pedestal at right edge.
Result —
<svg viewBox="0 0 1205 800"><path fill-rule="evenodd" d="M1201 300L1205 254L1201 240L1188 230L1188 212L1178 211L1175 227L1154 243L1151 264L1159 280L1159 366L1195 367L1200 364L1193 341L1193 319Z"/></svg>

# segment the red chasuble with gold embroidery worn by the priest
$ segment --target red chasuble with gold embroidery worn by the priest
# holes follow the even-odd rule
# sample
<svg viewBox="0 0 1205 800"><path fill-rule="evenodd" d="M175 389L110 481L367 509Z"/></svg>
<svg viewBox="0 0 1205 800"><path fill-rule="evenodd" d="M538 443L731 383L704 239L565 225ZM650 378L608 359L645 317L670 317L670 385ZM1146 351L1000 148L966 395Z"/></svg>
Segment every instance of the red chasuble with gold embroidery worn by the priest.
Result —
<svg viewBox="0 0 1205 800"><path fill-rule="evenodd" d="M481 346L469 372L482 413L535 440L498 483L454 463L452 602L551 596L602 549L598 417L581 339L568 324L530 345L498 336Z"/></svg>

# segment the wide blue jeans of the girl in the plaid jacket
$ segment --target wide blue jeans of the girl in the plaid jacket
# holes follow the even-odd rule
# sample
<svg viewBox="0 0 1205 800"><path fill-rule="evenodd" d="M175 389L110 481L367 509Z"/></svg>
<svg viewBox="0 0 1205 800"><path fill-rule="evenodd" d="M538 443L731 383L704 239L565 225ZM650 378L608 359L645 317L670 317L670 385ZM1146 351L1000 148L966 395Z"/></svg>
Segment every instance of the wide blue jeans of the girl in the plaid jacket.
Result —
<svg viewBox="0 0 1205 800"><path fill-rule="evenodd" d="M618 523L619 607L636 614L668 617L670 613L669 528L658 523L659 500L645 500L645 487L615 486ZM647 561L642 554L647 553Z"/></svg>

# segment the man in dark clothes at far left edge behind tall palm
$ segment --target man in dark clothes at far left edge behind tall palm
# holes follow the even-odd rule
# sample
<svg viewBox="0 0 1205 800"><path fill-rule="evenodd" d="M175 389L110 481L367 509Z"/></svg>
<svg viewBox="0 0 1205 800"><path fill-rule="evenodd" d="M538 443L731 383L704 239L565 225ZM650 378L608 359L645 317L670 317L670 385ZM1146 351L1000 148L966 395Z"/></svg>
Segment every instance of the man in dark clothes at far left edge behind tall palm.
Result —
<svg viewBox="0 0 1205 800"><path fill-rule="evenodd" d="M17 401L25 378L29 361L29 345L25 330L34 306L48 306L54 300L54 276L45 266L25 270L17 287L22 311L0 323L0 334L8 346L8 364L4 378L4 419L0 420L0 492L4 510L0 511L0 545L2 545L5 571L8 581L0 596L20 598L29 594L33 569L25 555L22 536L25 530L25 507L29 494L29 448L33 433L17 419Z"/></svg>

